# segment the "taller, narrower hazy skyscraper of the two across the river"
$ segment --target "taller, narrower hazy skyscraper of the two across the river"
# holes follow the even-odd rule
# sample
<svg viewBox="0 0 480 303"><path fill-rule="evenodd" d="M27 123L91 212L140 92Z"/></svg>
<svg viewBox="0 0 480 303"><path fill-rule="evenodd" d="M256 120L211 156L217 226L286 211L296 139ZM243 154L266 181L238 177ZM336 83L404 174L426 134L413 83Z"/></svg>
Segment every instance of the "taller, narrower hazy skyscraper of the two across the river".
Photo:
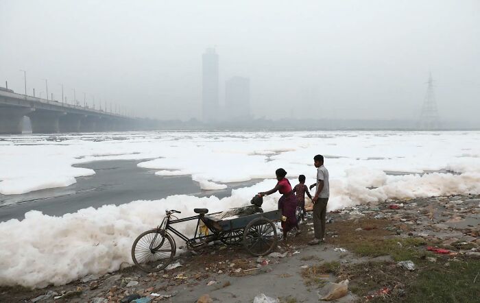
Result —
<svg viewBox="0 0 480 303"><path fill-rule="evenodd" d="M204 122L218 120L218 55L206 49L202 56L202 117Z"/></svg>

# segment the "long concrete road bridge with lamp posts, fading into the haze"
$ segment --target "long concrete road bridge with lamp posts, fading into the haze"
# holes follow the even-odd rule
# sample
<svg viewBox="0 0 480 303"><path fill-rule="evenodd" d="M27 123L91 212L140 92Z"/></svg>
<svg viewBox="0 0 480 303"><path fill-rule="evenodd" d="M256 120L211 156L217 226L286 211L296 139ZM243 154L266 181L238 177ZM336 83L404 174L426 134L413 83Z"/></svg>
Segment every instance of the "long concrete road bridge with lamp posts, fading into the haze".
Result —
<svg viewBox="0 0 480 303"><path fill-rule="evenodd" d="M104 110L0 90L0 134L21 134L24 116L29 117L32 132L43 134L136 130L141 122Z"/></svg>

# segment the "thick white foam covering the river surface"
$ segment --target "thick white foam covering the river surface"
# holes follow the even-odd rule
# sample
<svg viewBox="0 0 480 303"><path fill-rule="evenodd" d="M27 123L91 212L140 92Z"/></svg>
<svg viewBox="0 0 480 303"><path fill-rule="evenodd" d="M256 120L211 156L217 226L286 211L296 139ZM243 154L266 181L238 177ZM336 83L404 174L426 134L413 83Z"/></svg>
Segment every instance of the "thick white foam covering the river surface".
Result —
<svg viewBox="0 0 480 303"><path fill-rule="evenodd" d="M0 223L0 285L45 287L119 269L132 263L135 237L155 227L166 208L187 216L193 208L214 212L249 204L255 193L275 185L279 167L292 184L300 173L311 184L315 154L330 155L325 160L329 210L387 198L480 193L480 132L147 132L1 139L2 194L68 186L95 173L72 165L95 160L145 159L139 167L158 175L191 175L206 190L267 180L224 199L173 195L62 217L31 211L21 221ZM424 171L455 173L420 175ZM266 197L264 209L275 209L278 197ZM189 234L193 228L187 223L180 230Z"/></svg>

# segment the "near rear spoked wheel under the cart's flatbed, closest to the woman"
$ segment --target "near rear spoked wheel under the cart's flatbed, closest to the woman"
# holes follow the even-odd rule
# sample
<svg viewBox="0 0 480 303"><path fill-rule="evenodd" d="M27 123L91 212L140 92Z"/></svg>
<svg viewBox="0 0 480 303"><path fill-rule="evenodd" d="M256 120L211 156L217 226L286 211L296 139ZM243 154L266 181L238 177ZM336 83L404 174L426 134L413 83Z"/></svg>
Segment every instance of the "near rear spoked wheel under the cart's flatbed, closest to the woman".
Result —
<svg viewBox="0 0 480 303"><path fill-rule="evenodd" d="M274 250L277 243L276 228L272 221L256 218L243 231L243 245L254 256L265 256Z"/></svg>

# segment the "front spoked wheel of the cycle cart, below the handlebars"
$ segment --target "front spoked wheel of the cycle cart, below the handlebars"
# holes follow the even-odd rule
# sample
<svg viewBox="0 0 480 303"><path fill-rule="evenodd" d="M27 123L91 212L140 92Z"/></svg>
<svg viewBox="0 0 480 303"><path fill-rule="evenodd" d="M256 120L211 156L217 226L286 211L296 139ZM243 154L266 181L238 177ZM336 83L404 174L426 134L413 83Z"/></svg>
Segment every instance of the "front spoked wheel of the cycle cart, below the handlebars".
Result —
<svg viewBox="0 0 480 303"><path fill-rule="evenodd" d="M143 271L160 271L170 264L175 251L175 241L169 234L157 229L147 230L135 239L132 259Z"/></svg>

